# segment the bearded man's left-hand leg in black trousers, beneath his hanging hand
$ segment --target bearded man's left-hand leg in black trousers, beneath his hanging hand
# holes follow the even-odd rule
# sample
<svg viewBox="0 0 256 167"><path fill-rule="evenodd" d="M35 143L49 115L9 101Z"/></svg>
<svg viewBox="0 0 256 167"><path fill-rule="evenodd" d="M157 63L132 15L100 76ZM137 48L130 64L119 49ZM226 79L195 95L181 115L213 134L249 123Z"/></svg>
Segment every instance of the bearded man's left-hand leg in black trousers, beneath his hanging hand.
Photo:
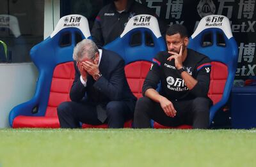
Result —
<svg viewBox="0 0 256 167"><path fill-rule="evenodd" d="M175 106L174 106L175 107ZM177 110L177 108L175 108ZM134 127L150 128L150 119L162 124L163 126L179 126L182 122L184 113L177 110L175 117L168 117L161 105L147 97L138 99L134 111Z"/></svg>

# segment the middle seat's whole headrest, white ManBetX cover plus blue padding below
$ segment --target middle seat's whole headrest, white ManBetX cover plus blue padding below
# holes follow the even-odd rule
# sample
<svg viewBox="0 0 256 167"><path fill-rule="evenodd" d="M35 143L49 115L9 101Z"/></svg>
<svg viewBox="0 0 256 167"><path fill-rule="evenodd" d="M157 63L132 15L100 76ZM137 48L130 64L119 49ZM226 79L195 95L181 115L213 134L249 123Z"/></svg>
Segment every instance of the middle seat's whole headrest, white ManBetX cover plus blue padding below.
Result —
<svg viewBox="0 0 256 167"><path fill-rule="evenodd" d="M166 50L156 17L136 15L129 19L124 32L104 48L123 57L125 64L134 61L152 61L160 51Z"/></svg>

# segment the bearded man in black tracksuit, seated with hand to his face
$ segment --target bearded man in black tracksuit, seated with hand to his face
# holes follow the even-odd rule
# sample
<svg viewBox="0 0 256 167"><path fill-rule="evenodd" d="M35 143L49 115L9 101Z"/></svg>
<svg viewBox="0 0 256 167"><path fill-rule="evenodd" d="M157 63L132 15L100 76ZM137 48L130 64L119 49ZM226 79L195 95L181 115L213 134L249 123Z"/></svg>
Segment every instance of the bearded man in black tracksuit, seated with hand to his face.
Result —
<svg viewBox="0 0 256 167"><path fill-rule="evenodd" d="M164 126L209 126L208 98L211 61L188 49L188 33L183 25L172 25L166 31L168 52L159 52L153 59L143 84L143 98L134 111L134 126L150 127L150 119ZM157 84L161 91L157 92Z"/></svg>

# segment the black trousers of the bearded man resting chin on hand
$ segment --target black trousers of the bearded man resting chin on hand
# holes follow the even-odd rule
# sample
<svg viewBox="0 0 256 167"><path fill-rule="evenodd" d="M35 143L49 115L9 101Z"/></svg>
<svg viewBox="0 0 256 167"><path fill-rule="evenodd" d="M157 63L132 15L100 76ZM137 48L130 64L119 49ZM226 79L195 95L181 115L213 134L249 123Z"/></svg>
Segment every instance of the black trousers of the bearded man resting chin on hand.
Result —
<svg viewBox="0 0 256 167"><path fill-rule="evenodd" d="M195 98L188 101L172 101L175 117L168 117L160 103L156 103L147 97L138 99L134 111L134 127L149 128L150 119L163 126L192 125L195 129L209 127L209 108L212 102L208 98Z"/></svg>

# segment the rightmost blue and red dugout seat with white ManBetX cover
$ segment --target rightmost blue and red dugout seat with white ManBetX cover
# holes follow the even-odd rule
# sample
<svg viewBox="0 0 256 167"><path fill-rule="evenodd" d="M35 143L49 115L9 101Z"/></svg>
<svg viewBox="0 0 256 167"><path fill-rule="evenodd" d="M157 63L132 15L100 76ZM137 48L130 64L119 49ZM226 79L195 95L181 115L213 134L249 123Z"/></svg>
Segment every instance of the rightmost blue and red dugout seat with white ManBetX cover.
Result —
<svg viewBox="0 0 256 167"><path fill-rule="evenodd" d="M211 124L215 113L227 103L236 74L238 48L228 18L222 15L202 18L195 33L189 38L188 48L207 55L212 61L208 92L213 101L210 109ZM168 128L160 124L154 127Z"/></svg>

